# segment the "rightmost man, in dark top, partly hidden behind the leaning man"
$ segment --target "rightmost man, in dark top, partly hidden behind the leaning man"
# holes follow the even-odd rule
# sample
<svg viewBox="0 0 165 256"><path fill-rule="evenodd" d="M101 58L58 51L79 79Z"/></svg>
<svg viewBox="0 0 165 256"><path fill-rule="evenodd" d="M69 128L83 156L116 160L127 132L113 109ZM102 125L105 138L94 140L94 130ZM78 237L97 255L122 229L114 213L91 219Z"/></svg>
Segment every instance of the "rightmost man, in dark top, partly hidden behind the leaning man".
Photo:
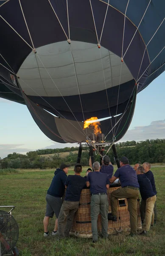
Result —
<svg viewBox="0 0 165 256"><path fill-rule="evenodd" d="M155 193L155 195L157 195L157 190L156 190L156 186L155 186L155 180L154 180L154 174L150 171L151 168L151 164L148 162L143 163L143 168L145 171L145 176L148 177L148 179L151 181L151 185L152 185L152 189ZM140 215L141 215L141 220L142 223L144 222L145 219L145 200L141 200L140 202ZM157 203L155 202L155 206L154 206L154 221L152 220L151 224L156 224L157 222Z"/></svg>

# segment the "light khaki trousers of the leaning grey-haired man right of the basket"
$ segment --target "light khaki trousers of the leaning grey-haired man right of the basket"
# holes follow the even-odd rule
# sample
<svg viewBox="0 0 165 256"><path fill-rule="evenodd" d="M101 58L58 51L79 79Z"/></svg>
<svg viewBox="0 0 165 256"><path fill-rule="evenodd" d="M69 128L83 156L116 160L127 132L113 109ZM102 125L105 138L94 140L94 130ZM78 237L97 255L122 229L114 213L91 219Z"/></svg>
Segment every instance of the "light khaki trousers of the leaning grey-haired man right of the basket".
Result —
<svg viewBox="0 0 165 256"><path fill-rule="evenodd" d="M157 196L154 195L151 198L145 200L145 224L143 230L149 231L151 220L154 222L154 204L157 200Z"/></svg>

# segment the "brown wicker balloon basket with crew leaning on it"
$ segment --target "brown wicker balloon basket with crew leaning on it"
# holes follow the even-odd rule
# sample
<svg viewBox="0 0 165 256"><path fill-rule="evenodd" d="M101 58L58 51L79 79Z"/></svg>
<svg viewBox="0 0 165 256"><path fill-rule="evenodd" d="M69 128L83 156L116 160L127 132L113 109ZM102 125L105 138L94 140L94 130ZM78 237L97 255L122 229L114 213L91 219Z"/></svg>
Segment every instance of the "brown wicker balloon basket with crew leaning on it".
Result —
<svg viewBox="0 0 165 256"><path fill-rule="evenodd" d="M109 190L107 191L108 201L109 201L109 212L111 212L110 194L112 191L118 188L119 187L110 187ZM141 229L142 225L141 225L141 218L140 218L140 200L139 199L137 200L137 214L138 214L137 228ZM129 211L128 211L128 203L126 198L118 200L117 222L108 221L109 234L113 234L121 231L123 232L130 231ZM74 216L73 225L70 233L78 237L84 237L84 238L92 237L89 189L83 189L81 192L79 208ZM101 233L101 215L100 214L98 215L98 233Z"/></svg>

